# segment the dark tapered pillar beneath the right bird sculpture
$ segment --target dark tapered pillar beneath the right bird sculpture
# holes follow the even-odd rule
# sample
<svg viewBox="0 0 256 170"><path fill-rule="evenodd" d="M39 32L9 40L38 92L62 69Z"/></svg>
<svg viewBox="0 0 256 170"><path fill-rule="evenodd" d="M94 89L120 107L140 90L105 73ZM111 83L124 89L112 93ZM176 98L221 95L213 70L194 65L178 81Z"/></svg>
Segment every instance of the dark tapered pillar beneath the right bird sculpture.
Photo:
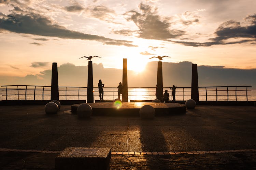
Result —
<svg viewBox="0 0 256 170"><path fill-rule="evenodd" d="M162 62L157 62L157 88L156 98L163 102L163 71Z"/></svg>

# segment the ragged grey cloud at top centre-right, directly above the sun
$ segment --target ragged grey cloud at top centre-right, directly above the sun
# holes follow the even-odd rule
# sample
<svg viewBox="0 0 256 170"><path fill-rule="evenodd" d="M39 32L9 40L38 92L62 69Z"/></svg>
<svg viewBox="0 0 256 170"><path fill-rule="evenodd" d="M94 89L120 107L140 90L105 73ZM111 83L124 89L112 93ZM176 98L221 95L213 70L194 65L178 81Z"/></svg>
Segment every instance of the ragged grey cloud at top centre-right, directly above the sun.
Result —
<svg viewBox="0 0 256 170"><path fill-rule="evenodd" d="M176 38L185 34L183 30L170 29L170 23L167 19L161 19L157 15L157 8L150 5L140 3L141 13L137 11L129 11L125 13L139 28L139 37L146 39L166 40L168 38Z"/></svg>

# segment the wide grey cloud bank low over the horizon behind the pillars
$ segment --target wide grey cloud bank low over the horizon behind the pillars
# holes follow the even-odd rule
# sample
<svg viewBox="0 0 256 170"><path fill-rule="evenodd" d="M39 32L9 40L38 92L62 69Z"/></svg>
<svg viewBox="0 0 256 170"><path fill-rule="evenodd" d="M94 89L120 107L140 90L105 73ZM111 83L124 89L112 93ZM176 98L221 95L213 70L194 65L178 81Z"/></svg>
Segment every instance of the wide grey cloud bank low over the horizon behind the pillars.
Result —
<svg viewBox="0 0 256 170"><path fill-rule="evenodd" d="M163 86L191 86L192 62L162 62ZM117 87L122 80L122 69L104 68L102 63L93 64L94 87L101 79L105 87ZM87 86L88 66L71 63L58 67L59 86ZM103 74L104 73L104 74ZM2 85L51 85L52 70L41 71L26 77L0 76ZM246 75L246 76L245 76ZM198 66L199 86L253 86L256 88L256 69L233 69L224 66ZM157 62L149 62L145 71L136 73L128 70L128 87L155 87L157 82Z"/></svg>

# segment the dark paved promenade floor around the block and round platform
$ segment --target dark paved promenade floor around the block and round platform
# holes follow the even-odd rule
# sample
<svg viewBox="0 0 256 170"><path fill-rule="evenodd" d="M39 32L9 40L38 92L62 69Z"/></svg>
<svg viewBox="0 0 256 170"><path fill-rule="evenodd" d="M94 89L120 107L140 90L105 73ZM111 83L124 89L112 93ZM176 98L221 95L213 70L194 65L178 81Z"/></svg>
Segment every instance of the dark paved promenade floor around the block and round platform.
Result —
<svg viewBox="0 0 256 170"><path fill-rule="evenodd" d="M111 169L256 168L253 106L197 106L184 115L153 120L81 120L64 113L69 109L61 106L58 114L46 115L43 105L1 106L0 169L51 169L58 154L54 151L66 147L110 147Z"/></svg>

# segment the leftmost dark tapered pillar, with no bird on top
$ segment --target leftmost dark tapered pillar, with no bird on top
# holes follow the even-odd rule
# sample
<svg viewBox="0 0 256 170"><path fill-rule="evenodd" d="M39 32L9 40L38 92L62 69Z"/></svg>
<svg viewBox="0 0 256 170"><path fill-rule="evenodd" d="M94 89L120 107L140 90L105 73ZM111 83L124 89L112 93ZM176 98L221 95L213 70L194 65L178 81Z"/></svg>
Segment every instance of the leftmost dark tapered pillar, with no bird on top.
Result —
<svg viewBox="0 0 256 170"><path fill-rule="evenodd" d="M58 83L57 63L53 63L53 67L52 67L51 100L59 100L59 83Z"/></svg>

